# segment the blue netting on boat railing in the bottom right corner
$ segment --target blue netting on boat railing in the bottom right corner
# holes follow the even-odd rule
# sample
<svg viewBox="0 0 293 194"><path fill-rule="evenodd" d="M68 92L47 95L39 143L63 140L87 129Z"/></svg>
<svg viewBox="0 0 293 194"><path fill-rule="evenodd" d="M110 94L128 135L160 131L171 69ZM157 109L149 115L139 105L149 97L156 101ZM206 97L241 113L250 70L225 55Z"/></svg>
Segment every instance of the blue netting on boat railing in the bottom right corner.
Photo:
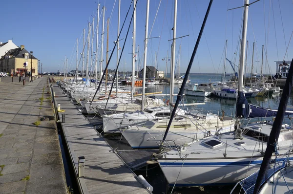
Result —
<svg viewBox="0 0 293 194"><path fill-rule="evenodd" d="M286 167L286 160L287 158L282 158L280 159L275 167L272 167L271 169L268 169L266 171L266 174L261 182L261 184L263 185L270 177L272 177L272 175L282 169L284 169ZM274 161L276 162L276 161ZM254 190L254 186L255 186L255 182L258 176L258 171L252 173L250 176L242 179L241 181L237 182L236 185L233 187L232 191L230 192L230 194L239 194L239 187L241 189L241 193L244 192L244 194L253 194L253 190ZM243 192L242 192L243 191Z"/></svg>

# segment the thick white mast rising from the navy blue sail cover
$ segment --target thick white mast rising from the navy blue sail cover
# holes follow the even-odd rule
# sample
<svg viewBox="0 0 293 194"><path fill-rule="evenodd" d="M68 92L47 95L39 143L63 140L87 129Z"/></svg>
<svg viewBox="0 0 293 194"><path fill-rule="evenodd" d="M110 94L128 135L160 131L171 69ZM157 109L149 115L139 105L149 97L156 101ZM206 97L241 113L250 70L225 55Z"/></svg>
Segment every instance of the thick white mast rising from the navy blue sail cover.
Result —
<svg viewBox="0 0 293 194"><path fill-rule="evenodd" d="M243 25L242 25L242 41L241 41L241 50L240 50L240 64L239 64L239 73L238 73L238 97L242 97L244 94L243 91L243 72L244 72L244 62L245 62L245 49L246 49L246 34L247 34L247 18L248 18L248 6L249 0L245 0L244 4L244 13L243 13ZM237 114L236 107L236 114ZM236 117L235 120L235 138L241 138L241 129L240 129L240 118Z"/></svg>

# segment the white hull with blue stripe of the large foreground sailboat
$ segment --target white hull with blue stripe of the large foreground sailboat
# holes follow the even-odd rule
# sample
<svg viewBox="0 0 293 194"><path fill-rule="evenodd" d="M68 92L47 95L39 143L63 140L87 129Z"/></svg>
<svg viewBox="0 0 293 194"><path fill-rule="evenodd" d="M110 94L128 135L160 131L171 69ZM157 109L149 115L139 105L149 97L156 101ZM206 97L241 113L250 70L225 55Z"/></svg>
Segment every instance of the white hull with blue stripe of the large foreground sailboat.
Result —
<svg viewBox="0 0 293 194"><path fill-rule="evenodd" d="M263 157L184 159L157 159L170 186L233 184L257 171Z"/></svg>

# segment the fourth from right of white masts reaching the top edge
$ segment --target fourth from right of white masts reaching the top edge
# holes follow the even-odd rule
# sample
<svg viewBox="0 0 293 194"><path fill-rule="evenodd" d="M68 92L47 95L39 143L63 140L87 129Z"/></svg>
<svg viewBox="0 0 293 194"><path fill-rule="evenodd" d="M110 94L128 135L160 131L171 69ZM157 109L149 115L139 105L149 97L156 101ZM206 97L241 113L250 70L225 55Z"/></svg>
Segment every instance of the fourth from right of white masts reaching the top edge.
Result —
<svg viewBox="0 0 293 194"><path fill-rule="evenodd" d="M119 1L120 2L120 1ZM136 39L136 0L133 3L133 39L132 39L132 82L131 82L131 102L133 101L135 82L135 39Z"/></svg>

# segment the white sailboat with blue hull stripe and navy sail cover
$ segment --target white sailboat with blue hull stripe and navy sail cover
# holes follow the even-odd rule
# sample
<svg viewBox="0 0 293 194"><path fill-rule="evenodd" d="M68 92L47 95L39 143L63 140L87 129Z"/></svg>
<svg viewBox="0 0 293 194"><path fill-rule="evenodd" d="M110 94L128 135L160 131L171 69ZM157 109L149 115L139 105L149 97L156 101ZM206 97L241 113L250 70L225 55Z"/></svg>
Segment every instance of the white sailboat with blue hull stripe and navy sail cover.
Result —
<svg viewBox="0 0 293 194"><path fill-rule="evenodd" d="M190 145L157 154L157 162L170 186L233 184L259 169L264 159L263 151L267 147L266 142L273 123L254 123L240 127L240 118L276 115L275 110L248 104L242 91L249 5L249 0L246 0L244 4L235 131L203 138ZM284 114L290 115L293 114L293 111L286 111ZM168 126L170 123L171 120ZM278 141L278 153L280 156L289 157L292 160L293 158L288 154L290 148L292 148L293 127L289 125L280 127L282 133ZM165 136L167 138L167 135Z"/></svg>

